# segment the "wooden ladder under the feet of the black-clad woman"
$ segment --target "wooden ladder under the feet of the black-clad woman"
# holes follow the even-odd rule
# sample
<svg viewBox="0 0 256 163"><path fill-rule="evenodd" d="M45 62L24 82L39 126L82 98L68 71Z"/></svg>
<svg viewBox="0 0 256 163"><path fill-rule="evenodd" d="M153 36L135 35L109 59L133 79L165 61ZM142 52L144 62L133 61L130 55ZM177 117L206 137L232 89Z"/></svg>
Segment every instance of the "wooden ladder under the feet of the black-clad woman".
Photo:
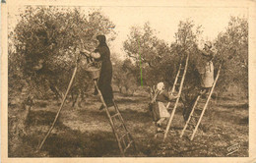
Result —
<svg viewBox="0 0 256 163"><path fill-rule="evenodd" d="M98 89L96 80L94 80L94 81L95 81L96 89L100 96L100 100L105 107L106 115L109 119L113 134L116 137L116 140L117 140L117 143L118 143L118 146L119 146L122 156L125 156L125 152L131 146L133 146L134 150L137 151L135 141L125 126L123 117L122 117L121 113L119 112L118 106L116 105L116 103L113 100L114 114L110 114L109 108L106 106L104 99L102 97L102 94L101 94L100 90Z"/></svg>

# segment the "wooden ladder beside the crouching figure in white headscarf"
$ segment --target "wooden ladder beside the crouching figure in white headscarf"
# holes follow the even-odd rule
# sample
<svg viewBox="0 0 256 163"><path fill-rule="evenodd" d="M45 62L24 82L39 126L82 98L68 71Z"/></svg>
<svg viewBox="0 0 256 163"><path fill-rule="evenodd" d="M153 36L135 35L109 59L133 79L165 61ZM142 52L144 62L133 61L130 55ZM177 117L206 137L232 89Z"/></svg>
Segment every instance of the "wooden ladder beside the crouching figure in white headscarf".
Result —
<svg viewBox="0 0 256 163"><path fill-rule="evenodd" d="M173 83L172 89L171 89L171 93L173 93L174 91L176 91L176 88L177 88L177 90L178 90L178 98L176 98L175 104L174 104L174 106L172 108L171 115L170 115L170 118L168 120L165 132L164 132L163 141L167 137L167 134L168 134L171 122L173 120L173 117L174 117L174 114L175 114L175 111L176 111L176 108L177 108L177 105L178 105L178 102L179 102L180 94L181 94L182 87L183 87L183 82L184 82L185 77L186 77L186 72L187 72L187 67L188 67L188 60L189 60L189 52L186 55L187 55L186 56L186 61L183 62L181 60L181 62L179 64L178 72L177 72L175 81ZM170 102L167 103L166 108L168 108L169 105L170 105Z"/></svg>

